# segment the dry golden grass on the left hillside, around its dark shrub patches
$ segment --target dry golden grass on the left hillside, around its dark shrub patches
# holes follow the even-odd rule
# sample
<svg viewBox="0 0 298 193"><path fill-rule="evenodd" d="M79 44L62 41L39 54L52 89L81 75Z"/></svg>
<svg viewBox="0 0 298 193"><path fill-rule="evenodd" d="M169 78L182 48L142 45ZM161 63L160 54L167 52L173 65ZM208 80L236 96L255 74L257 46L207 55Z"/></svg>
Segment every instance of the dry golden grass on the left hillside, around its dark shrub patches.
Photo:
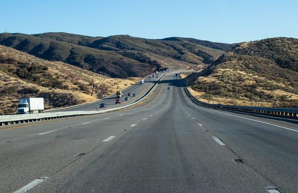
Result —
<svg viewBox="0 0 298 193"><path fill-rule="evenodd" d="M44 65L48 67L46 72L50 73L53 78L62 81L63 85L68 86L68 89L63 90L43 87L28 80L21 79L7 71L7 69L17 69L20 65L28 64ZM73 98L73 104L93 101L99 97L99 91L101 92L100 97L103 97L104 95L115 92L117 86L123 89L139 82L141 79L137 77L131 77L129 79L110 78L70 64L43 60L2 45L0 45L0 67L0 114L15 113L18 98L21 97L44 97L46 109L64 107L71 104L70 97ZM85 93L80 90L77 83L86 87ZM4 88L13 88L13 91L10 91L10 94L1 94ZM21 93L24 88L34 88L39 91L32 94Z"/></svg>

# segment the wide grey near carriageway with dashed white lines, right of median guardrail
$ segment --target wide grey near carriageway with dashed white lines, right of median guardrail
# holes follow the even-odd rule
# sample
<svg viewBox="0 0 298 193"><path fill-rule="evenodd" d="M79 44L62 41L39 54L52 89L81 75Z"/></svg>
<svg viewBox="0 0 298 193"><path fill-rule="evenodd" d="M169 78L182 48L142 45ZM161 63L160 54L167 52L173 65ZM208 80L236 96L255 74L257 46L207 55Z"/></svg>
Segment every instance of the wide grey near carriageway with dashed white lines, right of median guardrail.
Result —
<svg viewBox="0 0 298 193"><path fill-rule="evenodd" d="M169 74L126 110L0 127L0 192L296 193L297 141L297 120L195 104Z"/></svg>

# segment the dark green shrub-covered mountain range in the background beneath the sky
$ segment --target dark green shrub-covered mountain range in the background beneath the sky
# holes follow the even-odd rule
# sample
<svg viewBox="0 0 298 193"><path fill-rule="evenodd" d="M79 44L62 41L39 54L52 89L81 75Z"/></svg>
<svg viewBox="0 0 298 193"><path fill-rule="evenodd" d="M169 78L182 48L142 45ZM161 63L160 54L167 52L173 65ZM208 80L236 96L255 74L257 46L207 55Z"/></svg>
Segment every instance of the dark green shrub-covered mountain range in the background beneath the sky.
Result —
<svg viewBox="0 0 298 193"><path fill-rule="evenodd" d="M164 68L204 69L233 46L191 38L172 41L128 35L89 37L63 32L2 33L0 44L49 61L62 61L119 78L144 77Z"/></svg>

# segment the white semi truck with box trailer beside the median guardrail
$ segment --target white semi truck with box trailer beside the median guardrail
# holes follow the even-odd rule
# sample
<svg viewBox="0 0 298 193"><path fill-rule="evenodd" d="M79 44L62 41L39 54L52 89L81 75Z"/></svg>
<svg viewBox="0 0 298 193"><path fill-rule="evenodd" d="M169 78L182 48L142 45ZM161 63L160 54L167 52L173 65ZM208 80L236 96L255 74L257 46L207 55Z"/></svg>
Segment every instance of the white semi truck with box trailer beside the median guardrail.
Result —
<svg viewBox="0 0 298 193"><path fill-rule="evenodd" d="M19 99L17 114L42 113L44 110L44 98Z"/></svg>

